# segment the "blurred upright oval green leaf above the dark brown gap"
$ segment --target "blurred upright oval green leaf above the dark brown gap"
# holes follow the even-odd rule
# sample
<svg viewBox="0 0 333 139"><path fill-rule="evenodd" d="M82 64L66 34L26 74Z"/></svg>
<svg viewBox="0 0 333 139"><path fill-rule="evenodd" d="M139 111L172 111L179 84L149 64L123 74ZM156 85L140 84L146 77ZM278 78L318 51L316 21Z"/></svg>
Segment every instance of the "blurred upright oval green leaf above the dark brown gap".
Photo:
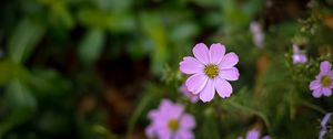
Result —
<svg viewBox="0 0 333 139"><path fill-rule="evenodd" d="M104 32L98 29L92 29L84 35L78 50L79 58L83 64L91 65L98 60L105 42L104 39Z"/></svg>

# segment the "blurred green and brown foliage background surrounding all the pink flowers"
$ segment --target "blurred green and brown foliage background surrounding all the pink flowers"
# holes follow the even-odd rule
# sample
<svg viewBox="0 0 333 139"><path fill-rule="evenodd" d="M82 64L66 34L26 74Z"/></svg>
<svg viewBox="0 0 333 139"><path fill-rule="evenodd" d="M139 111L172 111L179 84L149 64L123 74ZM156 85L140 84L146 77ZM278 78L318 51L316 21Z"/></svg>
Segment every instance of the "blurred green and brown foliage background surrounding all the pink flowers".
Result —
<svg viewBox="0 0 333 139"><path fill-rule="evenodd" d="M145 138L162 98L183 104L196 138L317 138L332 97L309 84L333 62L332 0L2 0L0 138ZM263 46L252 42L261 24ZM238 53L228 99L191 104L179 62L198 42ZM292 63L292 45L307 54ZM332 138L332 135L331 135Z"/></svg>

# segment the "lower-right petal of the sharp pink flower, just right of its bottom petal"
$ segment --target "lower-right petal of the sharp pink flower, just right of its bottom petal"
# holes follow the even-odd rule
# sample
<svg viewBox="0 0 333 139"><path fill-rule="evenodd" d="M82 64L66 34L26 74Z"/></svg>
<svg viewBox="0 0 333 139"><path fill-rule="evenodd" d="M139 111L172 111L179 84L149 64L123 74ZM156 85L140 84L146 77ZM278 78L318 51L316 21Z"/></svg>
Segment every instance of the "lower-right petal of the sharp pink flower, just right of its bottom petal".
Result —
<svg viewBox="0 0 333 139"><path fill-rule="evenodd" d="M225 79L216 77L214 82L215 82L214 84L215 84L216 92L222 98L226 98L231 96L232 86Z"/></svg>

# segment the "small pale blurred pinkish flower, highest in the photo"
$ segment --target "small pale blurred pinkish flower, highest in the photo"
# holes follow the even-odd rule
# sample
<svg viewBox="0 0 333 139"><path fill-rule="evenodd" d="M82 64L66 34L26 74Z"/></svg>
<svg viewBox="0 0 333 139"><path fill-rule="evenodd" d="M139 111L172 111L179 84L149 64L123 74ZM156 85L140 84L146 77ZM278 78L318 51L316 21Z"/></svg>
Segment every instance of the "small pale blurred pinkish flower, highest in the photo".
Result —
<svg viewBox="0 0 333 139"><path fill-rule="evenodd" d="M255 44L255 46L262 47L263 43L264 43L265 35L262 31L261 24L256 21L253 21L250 24L250 30L251 30L252 40L253 40L253 43Z"/></svg>

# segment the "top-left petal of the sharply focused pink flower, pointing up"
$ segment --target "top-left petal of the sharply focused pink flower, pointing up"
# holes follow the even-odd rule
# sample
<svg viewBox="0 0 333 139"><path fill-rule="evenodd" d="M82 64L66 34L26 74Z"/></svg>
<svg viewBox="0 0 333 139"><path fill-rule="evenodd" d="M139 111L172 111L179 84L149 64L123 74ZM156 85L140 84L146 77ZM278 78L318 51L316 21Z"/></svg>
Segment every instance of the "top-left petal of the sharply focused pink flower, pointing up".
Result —
<svg viewBox="0 0 333 139"><path fill-rule="evenodd" d="M196 60L199 60L203 64L209 64L209 49L204 43L198 43L192 50Z"/></svg>

